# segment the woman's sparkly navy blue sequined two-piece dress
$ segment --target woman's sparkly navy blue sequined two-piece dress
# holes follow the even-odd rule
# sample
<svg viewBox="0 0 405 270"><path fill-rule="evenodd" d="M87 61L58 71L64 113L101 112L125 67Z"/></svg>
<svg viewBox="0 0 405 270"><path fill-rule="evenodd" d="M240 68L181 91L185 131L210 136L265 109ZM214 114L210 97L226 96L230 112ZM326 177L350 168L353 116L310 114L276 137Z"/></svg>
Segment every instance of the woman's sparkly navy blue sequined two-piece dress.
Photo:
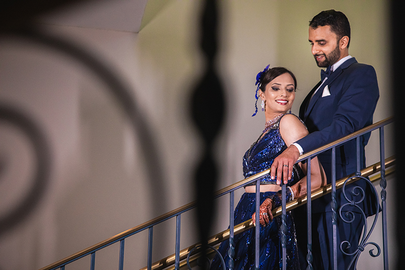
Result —
<svg viewBox="0 0 405 270"><path fill-rule="evenodd" d="M281 118L280 118L281 119ZM269 169L271 164L287 146L282 140L279 129L279 120L259 138L248 151L243 159L245 178L257 174L263 170ZM293 185L303 177L303 172L299 166L294 167L293 177L288 185ZM261 184L275 184L275 180L265 177ZM253 183L254 184L254 183ZM261 192L260 204L267 198L273 198L276 192ZM276 196L275 196L276 197ZM274 198L275 198L274 197ZM252 218L256 207L256 194L245 192L240 198L234 212L234 224L239 224ZM277 197L278 198L278 197ZM275 198L275 199L277 199ZM281 205L280 200L274 200ZM277 205L278 206L278 205ZM260 269L272 270L282 268L282 248L280 241L281 216L277 216L267 225L260 225ZM226 268L228 269L229 241L222 242L219 252L222 254ZM255 269L255 228L246 230L243 233L234 236L235 255L233 258L235 270L254 270ZM212 261L211 270L221 269L221 260L216 255ZM297 242L295 236L294 220L290 212L287 212L287 269L299 269L299 260L297 254Z"/></svg>

